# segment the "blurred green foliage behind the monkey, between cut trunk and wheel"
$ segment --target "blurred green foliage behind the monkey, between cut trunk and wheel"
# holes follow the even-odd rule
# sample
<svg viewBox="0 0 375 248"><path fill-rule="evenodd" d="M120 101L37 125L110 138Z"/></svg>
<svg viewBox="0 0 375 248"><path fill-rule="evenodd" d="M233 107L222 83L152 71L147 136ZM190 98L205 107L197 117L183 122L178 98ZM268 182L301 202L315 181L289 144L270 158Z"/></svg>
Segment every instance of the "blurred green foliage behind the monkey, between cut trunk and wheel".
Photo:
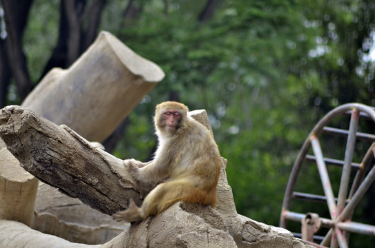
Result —
<svg viewBox="0 0 375 248"><path fill-rule="evenodd" d="M166 72L145 104L178 92L191 109L206 109L229 160L238 212L278 225L291 166L314 123L338 104L371 104L356 67L347 68L349 58L362 63L354 56L355 41L337 41L335 35L347 31L333 28L357 13L344 11L349 2L326 8L325 1L226 1L211 21L199 23L196 9L182 8L185 1L173 2L167 13L160 1L152 2L136 25L118 30L127 45ZM365 97L348 97L358 90ZM152 107L146 114L153 114ZM127 139L134 147L132 141ZM306 183L311 185L315 181Z"/></svg>

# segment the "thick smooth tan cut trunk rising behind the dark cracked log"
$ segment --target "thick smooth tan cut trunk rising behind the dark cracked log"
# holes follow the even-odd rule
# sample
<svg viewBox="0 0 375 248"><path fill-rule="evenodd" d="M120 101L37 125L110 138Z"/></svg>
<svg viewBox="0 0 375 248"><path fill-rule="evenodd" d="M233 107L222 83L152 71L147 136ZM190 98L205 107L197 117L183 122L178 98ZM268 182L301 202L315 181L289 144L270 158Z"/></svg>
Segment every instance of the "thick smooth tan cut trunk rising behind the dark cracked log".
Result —
<svg viewBox="0 0 375 248"><path fill-rule="evenodd" d="M164 76L155 63L103 31L70 68L51 70L22 105L102 142Z"/></svg>

